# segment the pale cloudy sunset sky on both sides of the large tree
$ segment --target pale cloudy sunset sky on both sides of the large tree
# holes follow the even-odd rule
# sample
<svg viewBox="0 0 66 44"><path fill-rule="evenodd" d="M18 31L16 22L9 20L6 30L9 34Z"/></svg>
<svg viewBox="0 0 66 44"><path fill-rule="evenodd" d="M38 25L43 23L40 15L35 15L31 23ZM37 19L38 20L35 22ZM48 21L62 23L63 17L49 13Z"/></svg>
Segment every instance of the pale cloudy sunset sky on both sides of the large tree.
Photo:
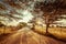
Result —
<svg viewBox="0 0 66 44"><path fill-rule="evenodd" d="M31 12L34 8L34 3L35 3L36 0L34 0L34 2L32 1L29 1L28 4L25 3L22 3L21 1L15 1L14 0L14 3L15 4L19 4L21 6L18 7L18 6L10 6L9 2L7 2L7 0L0 0L0 7L2 4L2 10L0 10L0 14L3 14L0 16L0 20L1 22L3 22L4 24L7 25L16 25L19 22L25 22L28 23L30 20L32 20L34 16L32 15L33 13ZM37 0L40 1L40 0ZM43 1L43 0L41 0ZM44 0L45 1L45 0ZM51 0L50 0L51 1ZM51 2L54 2L55 0L51 1ZM47 1L48 2L48 1ZM16 8L18 7L18 8ZM3 8L6 8L6 10L3 10ZM20 9L19 9L20 8ZM1 8L0 8L1 9ZM15 19L13 18L10 18L9 14L12 14L14 18L21 18L19 20L15 21ZM21 15L20 15L21 14ZM34 13L35 14L35 13ZM8 16L8 18L7 18ZM11 19L12 21L10 21L9 19ZM4 20L4 21L2 21ZM61 21L57 21L57 22L62 22L63 25L66 26L66 20L61 20Z"/></svg>

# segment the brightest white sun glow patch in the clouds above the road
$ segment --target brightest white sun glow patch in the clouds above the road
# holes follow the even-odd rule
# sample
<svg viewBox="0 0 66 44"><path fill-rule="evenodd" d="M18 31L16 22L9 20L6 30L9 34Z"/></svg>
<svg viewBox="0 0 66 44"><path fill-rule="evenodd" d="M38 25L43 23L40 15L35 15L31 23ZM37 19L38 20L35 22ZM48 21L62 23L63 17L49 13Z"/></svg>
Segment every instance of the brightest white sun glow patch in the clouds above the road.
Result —
<svg viewBox="0 0 66 44"><path fill-rule="evenodd" d="M22 13L23 13L23 20L20 20L19 22L28 23L30 20L32 20L33 15L30 11L24 10Z"/></svg>

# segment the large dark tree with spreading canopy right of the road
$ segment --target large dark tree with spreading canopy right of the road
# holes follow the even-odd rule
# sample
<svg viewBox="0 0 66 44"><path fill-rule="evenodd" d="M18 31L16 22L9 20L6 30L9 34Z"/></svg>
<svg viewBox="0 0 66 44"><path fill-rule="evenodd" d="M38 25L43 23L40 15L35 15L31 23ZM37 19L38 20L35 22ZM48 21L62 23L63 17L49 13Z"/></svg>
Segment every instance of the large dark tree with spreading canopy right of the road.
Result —
<svg viewBox="0 0 66 44"><path fill-rule="evenodd" d="M46 33L48 33L48 26L55 21L65 19L62 15L66 15L66 3L65 0L45 0L43 2L36 2L34 6L35 11L42 11L45 24L46 24ZM65 1L66 2L66 1Z"/></svg>

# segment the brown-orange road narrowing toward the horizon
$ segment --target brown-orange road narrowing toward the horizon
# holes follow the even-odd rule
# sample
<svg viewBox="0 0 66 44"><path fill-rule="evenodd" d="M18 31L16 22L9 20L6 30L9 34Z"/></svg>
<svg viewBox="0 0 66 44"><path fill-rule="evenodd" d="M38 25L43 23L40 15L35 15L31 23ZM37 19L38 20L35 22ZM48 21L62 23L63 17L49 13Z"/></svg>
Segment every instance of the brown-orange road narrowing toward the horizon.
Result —
<svg viewBox="0 0 66 44"><path fill-rule="evenodd" d="M52 37L44 36L32 30L21 29L16 33L8 36L0 44L66 44Z"/></svg>

